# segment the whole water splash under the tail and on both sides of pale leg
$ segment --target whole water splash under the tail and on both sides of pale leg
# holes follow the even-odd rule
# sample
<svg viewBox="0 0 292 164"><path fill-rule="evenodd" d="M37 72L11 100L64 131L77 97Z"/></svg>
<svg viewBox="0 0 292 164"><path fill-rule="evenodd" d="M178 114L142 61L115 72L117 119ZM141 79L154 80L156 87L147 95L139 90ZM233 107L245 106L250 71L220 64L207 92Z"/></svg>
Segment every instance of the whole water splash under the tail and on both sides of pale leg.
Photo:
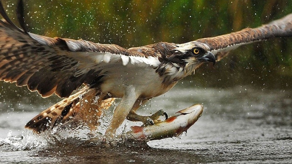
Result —
<svg viewBox="0 0 292 164"><path fill-rule="evenodd" d="M34 134L31 130L24 129L22 135L13 136L10 130L7 137L0 138L0 152L1 151L21 151L32 149L46 149L49 146L65 146L75 145L79 146L94 139L95 144L101 144L104 140L104 134L109 127L112 110L115 109L119 101L112 104L113 109L103 110L98 119L98 127L91 131L86 123L80 121L78 117L73 117L66 123L59 123L51 130L46 130L41 134ZM130 130L129 121L124 123L117 130L113 145L123 142L126 131ZM139 125L139 123L135 124Z"/></svg>

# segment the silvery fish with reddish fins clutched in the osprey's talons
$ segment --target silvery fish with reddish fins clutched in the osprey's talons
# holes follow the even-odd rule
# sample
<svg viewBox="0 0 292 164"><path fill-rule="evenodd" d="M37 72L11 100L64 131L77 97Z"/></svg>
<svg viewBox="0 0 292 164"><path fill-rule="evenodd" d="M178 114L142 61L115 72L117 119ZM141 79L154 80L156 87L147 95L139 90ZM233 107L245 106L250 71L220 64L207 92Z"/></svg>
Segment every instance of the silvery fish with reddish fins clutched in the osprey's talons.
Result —
<svg viewBox="0 0 292 164"><path fill-rule="evenodd" d="M148 142L156 139L178 137L187 131L202 115L203 105L195 104L176 113L163 122L149 126L132 126L127 132L127 138L135 142Z"/></svg>

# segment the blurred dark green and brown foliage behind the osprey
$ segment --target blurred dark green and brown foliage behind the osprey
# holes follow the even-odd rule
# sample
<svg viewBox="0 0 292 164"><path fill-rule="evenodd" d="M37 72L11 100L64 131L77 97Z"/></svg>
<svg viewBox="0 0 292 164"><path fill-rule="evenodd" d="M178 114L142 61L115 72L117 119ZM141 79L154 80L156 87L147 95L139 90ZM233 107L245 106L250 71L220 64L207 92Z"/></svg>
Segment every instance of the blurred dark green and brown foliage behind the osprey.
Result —
<svg viewBox="0 0 292 164"><path fill-rule="evenodd" d="M15 19L16 0L2 2ZM183 43L257 27L292 12L292 1L27 0L29 31L45 36L112 43L125 48L160 41ZM234 50L185 81L202 87L254 84L286 88L292 79L292 38ZM191 84L193 85L193 84Z"/></svg>

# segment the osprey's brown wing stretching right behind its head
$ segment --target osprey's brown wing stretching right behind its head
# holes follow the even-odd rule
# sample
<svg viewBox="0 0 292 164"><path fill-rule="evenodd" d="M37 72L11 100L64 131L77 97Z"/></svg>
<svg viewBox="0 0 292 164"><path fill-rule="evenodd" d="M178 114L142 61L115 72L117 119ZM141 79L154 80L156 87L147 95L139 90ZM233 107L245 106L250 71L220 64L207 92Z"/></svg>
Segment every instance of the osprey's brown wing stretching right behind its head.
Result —
<svg viewBox="0 0 292 164"><path fill-rule="evenodd" d="M217 56L217 60L221 60L228 51L241 45L284 36L292 36L292 14L257 28L245 28L238 32L195 41L206 43L211 52Z"/></svg>

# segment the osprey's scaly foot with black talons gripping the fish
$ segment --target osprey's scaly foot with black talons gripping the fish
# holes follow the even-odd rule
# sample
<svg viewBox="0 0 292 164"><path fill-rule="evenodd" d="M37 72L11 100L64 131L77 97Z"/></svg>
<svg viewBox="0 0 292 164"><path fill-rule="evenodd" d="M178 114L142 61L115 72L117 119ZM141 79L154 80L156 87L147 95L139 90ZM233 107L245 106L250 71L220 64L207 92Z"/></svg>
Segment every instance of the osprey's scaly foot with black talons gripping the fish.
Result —
<svg viewBox="0 0 292 164"><path fill-rule="evenodd" d="M143 125L154 125L155 123L162 121L160 120L160 116L164 116L165 119L168 118L167 113L160 109L151 116L141 116L136 114L135 112L131 112L128 114L127 119L130 121L141 121Z"/></svg>

